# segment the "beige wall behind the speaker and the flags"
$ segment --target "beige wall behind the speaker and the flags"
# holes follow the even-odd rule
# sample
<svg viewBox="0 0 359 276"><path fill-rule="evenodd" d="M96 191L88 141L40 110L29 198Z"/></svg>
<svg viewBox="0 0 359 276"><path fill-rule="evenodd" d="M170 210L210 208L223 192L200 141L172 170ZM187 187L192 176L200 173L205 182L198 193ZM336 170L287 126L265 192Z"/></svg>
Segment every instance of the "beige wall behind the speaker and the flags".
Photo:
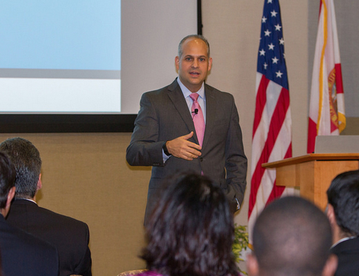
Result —
<svg viewBox="0 0 359 276"><path fill-rule="evenodd" d="M295 156L306 152L307 140L307 2L280 1ZM234 95L249 161L262 8L262 0L202 1L203 34L213 57L208 83ZM0 140L14 136L30 139L40 150L39 205L81 219L90 227L93 275L115 276L143 268L137 255L144 245L142 223L151 171L126 164L130 133L3 134ZM239 224L247 224L248 199L249 186L235 217Z"/></svg>

